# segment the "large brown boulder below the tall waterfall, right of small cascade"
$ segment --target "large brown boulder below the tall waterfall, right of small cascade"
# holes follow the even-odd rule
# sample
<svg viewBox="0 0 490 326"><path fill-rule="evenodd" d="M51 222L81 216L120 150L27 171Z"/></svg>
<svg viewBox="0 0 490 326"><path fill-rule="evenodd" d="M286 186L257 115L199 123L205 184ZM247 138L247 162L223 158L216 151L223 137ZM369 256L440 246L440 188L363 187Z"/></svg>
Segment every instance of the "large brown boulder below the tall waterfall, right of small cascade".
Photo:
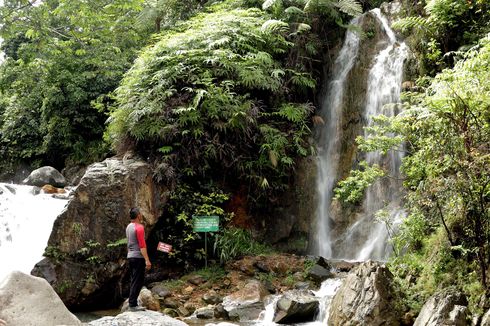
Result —
<svg viewBox="0 0 490 326"><path fill-rule="evenodd" d="M400 325L392 275L380 263L368 261L353 269L334 296L328 325Z"/></svg>

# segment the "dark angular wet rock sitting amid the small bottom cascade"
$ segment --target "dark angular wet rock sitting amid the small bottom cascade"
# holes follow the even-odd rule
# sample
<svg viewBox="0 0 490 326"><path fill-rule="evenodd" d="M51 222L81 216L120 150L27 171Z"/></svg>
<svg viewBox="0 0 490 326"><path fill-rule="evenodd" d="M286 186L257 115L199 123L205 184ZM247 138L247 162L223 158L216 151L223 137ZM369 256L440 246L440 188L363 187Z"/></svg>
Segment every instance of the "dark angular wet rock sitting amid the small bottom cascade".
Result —
<svg viewBox="0 0 490 326"><path fill-rule="evenodd" d="M320 303L308 291L289 291L276 304L274 322L278 324L304 323L313 321Z"/></svg>

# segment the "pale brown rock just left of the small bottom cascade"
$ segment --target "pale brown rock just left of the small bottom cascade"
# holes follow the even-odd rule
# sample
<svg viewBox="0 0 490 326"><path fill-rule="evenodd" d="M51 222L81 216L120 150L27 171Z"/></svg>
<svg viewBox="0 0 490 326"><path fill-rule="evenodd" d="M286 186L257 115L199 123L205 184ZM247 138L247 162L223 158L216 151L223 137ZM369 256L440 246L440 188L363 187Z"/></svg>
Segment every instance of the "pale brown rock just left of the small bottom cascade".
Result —
<svg viewBox="0 0 490 326"><path fill-rule="evenodd" d="M263 299L268 294L260 281L251 280L237 292L224 297L223 307L231 320L256 320L264 310Z"/></svg>

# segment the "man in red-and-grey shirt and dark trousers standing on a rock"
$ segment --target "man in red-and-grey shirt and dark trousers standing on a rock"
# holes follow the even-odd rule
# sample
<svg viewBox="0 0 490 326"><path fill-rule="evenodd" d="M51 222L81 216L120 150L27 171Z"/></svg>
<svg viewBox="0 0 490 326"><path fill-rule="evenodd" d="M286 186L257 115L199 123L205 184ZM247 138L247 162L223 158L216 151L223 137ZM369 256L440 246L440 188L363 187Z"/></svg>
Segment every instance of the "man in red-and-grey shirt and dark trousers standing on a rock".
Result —
<svg viewBox="0 0 490 326"><path fill-rule="evenodd" d="M145 242L145 229L141 224L143 216L138 208L129 211L131 223L126 227L128 240L128 264L131 273L131 285L129 289L129 310L141 311L145 308L138 306L138 296L145 280L145 269L151 268Z"/></svg>

